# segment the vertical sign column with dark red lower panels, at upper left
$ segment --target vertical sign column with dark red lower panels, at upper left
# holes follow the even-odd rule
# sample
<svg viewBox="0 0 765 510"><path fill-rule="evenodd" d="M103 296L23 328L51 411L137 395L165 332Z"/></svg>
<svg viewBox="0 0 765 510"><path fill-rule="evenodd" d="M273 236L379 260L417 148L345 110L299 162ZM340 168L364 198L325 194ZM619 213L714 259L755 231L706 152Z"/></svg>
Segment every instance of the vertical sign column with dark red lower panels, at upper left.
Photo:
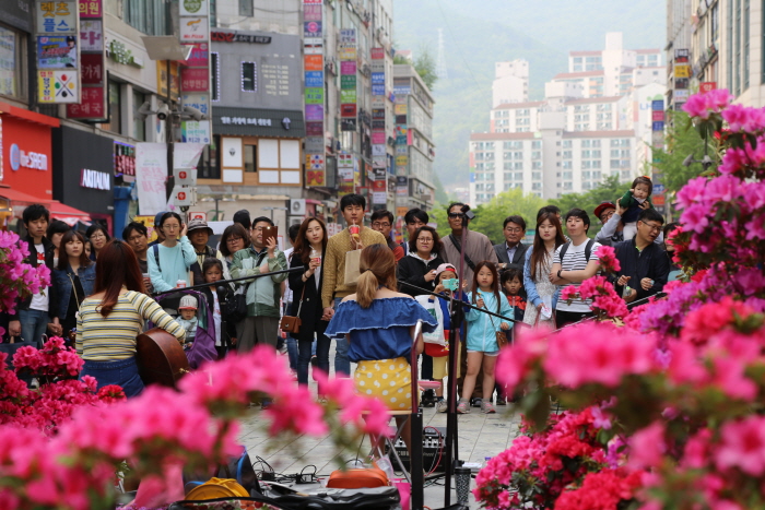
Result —
<svg viewBox="0 0 765 510"><path fill-rule="evenodd" d="M76 104L67 105L67 117L80 120L105 120L108 117L106 45L104 45L104 7L102 0L80 0L80 81Z"/></svg>

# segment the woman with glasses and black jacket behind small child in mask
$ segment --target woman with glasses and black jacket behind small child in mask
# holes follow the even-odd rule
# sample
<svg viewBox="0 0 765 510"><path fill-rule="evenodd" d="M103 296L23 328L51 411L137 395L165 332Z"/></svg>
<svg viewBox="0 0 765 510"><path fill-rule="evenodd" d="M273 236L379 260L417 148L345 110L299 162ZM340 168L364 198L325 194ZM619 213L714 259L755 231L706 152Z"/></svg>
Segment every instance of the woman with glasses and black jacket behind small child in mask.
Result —
<svg viewBox="0 0 765 510"><path fill-rule="evenodd" d="M399 261L396 269L399 289L402 293L420 296L426 294L425 290L433 292L436 288L436 270L444 263L444 259L440 258L442 248L435 228L424 226L414 232L409 241L409 254ZM423 354L422 359L422 379L433 379L433 358L426 354ZM436 393L426 390L422 395L422 404L425 407L434 407Z"/></svg>

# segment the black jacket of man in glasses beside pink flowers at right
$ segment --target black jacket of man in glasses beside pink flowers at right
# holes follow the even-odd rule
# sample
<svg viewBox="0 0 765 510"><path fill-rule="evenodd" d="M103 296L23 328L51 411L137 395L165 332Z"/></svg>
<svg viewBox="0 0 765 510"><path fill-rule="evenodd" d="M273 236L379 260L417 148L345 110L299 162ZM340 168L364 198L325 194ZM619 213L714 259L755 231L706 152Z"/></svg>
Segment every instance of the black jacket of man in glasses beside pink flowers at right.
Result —
<svg viewBox="0 0 765 510"><path fill-rule="evenodd" d="M616 242L613 246L616 251L616 259L622 269L619 271L616 276L612 276L614 282L614 288L616 293L621 296L624 287L616 285L615 282L620 276L631 276L629 285L631 288L637 290L637 298L643 299L654 294L660 293L664 285L667 284L667 277L669 276L669 259L667 253L661 249L656 242L651 242L643 249L643 251L637 251L635 245L635 238ZM654 281L654 286L648 290L644 290L640 285L640 280L651 278Z"/></svg>

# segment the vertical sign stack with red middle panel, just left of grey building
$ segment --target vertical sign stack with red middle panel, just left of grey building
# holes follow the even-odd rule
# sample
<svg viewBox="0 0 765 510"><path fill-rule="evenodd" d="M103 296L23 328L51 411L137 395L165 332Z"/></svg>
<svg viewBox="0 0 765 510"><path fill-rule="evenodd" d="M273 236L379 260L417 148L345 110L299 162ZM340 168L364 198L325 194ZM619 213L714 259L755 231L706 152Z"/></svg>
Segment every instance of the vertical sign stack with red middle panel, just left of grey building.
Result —
<svg viewBox="0 0 765 510"><path fill-rule="evenodd" d="M210 9L209 0L180 0L178 3L183 45L191 46L188 60L180 68L180 104L202 112L203 120L180 122L180 141L210 143L212 141L212 107L210 104ZM168 76L168 81L172 78ZM168 83L168 86L170 84Z"/></svg>

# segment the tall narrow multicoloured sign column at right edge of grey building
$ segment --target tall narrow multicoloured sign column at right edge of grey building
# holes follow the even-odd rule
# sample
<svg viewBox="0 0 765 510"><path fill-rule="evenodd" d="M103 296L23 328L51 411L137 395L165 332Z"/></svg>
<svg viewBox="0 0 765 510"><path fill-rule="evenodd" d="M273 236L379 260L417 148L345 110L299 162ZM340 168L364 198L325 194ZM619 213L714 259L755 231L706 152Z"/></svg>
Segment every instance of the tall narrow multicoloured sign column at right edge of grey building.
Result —
<svg viewBox="0 0 765 510"><path fill-rule="evenodd" d="M306 186L323 187L325 154L325 56L323 1L303 0L303 71L305 73Z"/></svg>

